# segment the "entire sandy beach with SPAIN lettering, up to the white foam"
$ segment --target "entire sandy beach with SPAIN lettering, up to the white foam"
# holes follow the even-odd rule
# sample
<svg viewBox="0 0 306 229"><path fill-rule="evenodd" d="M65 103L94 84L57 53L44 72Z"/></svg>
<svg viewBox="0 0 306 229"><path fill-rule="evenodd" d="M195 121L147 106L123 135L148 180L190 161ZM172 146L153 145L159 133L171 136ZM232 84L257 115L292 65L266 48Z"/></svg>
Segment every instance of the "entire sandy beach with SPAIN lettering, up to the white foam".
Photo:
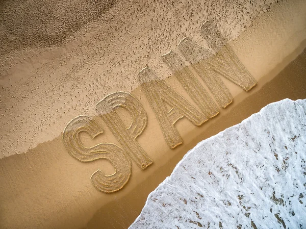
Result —
<svg viewBox="0 0 306 229"><path fill-rule="evenodd" d="M0 228L127 228L197 142L306 97L302 0L0 9Z"/></svg>

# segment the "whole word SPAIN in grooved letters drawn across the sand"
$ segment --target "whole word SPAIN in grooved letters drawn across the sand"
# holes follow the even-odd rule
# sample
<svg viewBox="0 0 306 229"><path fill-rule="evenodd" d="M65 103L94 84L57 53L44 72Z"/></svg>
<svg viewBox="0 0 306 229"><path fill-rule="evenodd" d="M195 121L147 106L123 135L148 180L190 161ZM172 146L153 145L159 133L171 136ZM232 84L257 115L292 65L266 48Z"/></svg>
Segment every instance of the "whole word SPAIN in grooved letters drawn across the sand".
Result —
<svg viewBox="0 0 306 229"><path fill-rule="evenodd" d="M232 81L245 91L249 91L257 84L214 23L210 21L203 23L200 34L206 39L210 50L201 47L190 38L184 38L178 49L186 60L172 50L162 56L163 62L197 107L168 86L164 80L158 80L155 71L149 67L145 67L138 74L148 103L171 149L183 144L183 139L175 128L176 121L187 118L192 124L200 126L220 113L215 101L201 85L196 74L207 85L222 108L233 103L233 97L221 77ZM129 128L126 128L116 112L117 108L129 112L131 116ZM140 101L125 92L115 92L106 96L96 105L96 112L118 140L120 147L113 143L85 147L81 142L80 133L85 132L92 138L104 133L103 127L88 116L72 119L63 132L63 141L69 154L81 162L106 159L112 164L115 169L113 174L106 175L101 170L97 170L91 175L92 184L97 190L111 193L122 189L129 181L132 174L131 161L134 161L141 170L153 163L137 142L137 137L146 128L148 118Z"/></svg>

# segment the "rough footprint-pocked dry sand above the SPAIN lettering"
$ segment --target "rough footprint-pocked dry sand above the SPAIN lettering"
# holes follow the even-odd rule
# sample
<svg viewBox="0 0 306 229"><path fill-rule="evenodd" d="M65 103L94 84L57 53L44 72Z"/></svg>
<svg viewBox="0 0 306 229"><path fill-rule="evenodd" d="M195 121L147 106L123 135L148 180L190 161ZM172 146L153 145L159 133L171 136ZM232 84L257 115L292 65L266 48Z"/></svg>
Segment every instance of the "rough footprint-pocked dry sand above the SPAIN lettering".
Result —
<svg viewBox="0 0 306 229"><path fill-rule="evenodd" d="M75 1L78 2L76 5L74 2L53 4L52 1L40 1L38 5L44 7L33 7L36 2L2 1L0 5L4 12L0 16L1 115L6 117L1 119L0 125L3 133L0 157L23 153L38 143L52 140L62 132L63 125L75 116L96 115L95 104L106 95L135 89L140 84L138 72L146 65L157 71L157 77L168 78L171 71L161 56L171 49L176 50L184 37L190 37L208 48L200 32L202 23L207 20L214 21L222 35L231 40L252 22L256 23L254 19L257 16L276 7L275 18L282 22L267 16L258 25L263 28L264 24L268 24L274 31L276 24L284 23L284 31L276 35L280 40L273 35L275 44L269 45L272 50L279 50L282 42L303 28L303 23L296 16L304 12L303 1L297 5L285 3L288 6L274 6L274 1L256 1L253 4L244 1L231 4L227 1L123 1L113 5L99 20L87 23L85 28L73 30L73 37L65 39L65 42L45 47L32 37L37 33L52 38L61 36L79 17L84 16L81 21L87 21L88 15L92 14L88 14L86 7L79 8L78 1ZM100 1L96 2L98 4ZM63 8L61 4L69 7ZM90 4L84 5L91 7ZM71 14L61 10L69 8ZM74 8L78 10L72 10ZM293 9L290 11L290 8ZM85 12L78 14L81 9ZM283 11L278 15L281 9ZM292 11L296 12L295 16L289 13ZM218 20L214 19L216 16ZM48 23L49 17L55 22ZM266 20L273 21L275 25L266 23ZM22 23L26 26L20 26ZM65 26L61 23L65 23ZM295 26L291 27L292 24ZM27 31L22 31L24 29ZM266 33L271 34L270 31ZM303 36L303 33L299 36ZM22 38L22 34L29 37ZM50 43L53 43L52 40ZM254 44L252 47L260 50ZM272 50L267 52L275 54ZM247 53L246 50L243 53ZM274 58L273 55L269 57ZM253 59L259 58L253 56ZM261 68L260 72L251 74L257 79L262 77L262 71L268 73L269 70Z"/></svg>

